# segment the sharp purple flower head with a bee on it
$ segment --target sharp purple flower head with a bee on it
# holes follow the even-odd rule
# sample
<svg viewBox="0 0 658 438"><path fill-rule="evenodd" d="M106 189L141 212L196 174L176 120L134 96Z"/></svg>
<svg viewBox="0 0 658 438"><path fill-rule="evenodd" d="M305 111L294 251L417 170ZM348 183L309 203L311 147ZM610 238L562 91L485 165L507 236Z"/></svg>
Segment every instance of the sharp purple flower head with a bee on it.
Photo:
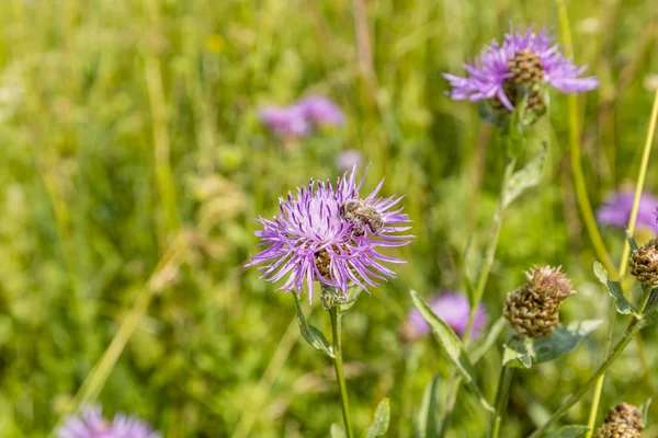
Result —
<svg viewBox="0 0 658 438"><path fill-rule="evenodd" d="M354 168L338 180L336 188L328 181L310 180L297 196L288 193L280 198L281 214L272 220L260 218L264 229L256 232L266 246L253 255L247 266L260 267L262 277L277 281L287 276L280 289L302 293L313 299L316 280L340 289L348 296L348 284L367 290L395 273L382 262L401 264L376 249L402 246L412 235L400 235L410 227L402 208L394 207L400 197L377 197L384 181L363 197L363 177L355 181ZM365 175L364 175L365 176Z"/></svg>

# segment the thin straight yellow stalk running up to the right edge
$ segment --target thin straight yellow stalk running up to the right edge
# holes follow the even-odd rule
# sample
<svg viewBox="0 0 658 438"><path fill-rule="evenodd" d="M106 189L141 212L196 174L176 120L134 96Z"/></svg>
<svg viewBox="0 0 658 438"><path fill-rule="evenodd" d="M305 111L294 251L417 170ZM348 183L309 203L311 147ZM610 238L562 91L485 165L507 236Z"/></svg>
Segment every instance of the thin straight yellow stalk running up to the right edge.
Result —
<svg viewBox="0 0 658 438"><path fill-rule="evenodd" d="M637 220L637 212L639 210L639 200L642 198L642 191L644 188L645 178L647 175L647 168L649 165L649 154L651 151L651 143L654 142L654 132L656 128L656 119L658 119L658 90L656 90L656 94L654 96L654 105L651 107L651 116L649 118L649 130L647 131L647 138L644 145L644 151L642 154L642 163L639 165L639 174L637 175L637 183L635 185L635 197L633 199L633 209L631 210L631 218L628 218L628 232L633 235L635 231L635 222ZM620 280L626 273L626 266L628 265L628 255L631 254L631 245L628 241L624 241L624 251L622 252L622 260L620 262ZM612 330L615 320L615 309L614 303L611 302L611 318L609 319L608 325L608 342L605 344L605 355L610 350L610 344L612 339ZM640 348L644 344L639 344ZM644 351L642 351L644 354ZM597 387L594 388L594 394L592 396L592 405L590 407L588 426L590 431L586 434L586 438L591 438L594 424L597 423L597 413L599 411L599 402L601 401L601 392L603 391L603 381L605 379L605 373L602 373L601 377L597 380Z"/></svg>

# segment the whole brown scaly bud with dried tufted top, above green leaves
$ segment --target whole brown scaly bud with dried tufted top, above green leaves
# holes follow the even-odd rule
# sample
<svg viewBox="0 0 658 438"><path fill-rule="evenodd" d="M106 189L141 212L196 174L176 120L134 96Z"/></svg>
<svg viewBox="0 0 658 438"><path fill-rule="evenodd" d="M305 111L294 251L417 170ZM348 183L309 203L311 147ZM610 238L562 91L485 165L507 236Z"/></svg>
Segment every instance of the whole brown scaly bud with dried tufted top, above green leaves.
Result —
<svg viewBox="0 0 658 438"><path fill-rule="evenodd" d="M559 304L574 293L571 281L559 267L535 266L525 275L527 283L508 295L502 313L521 335L549 336L559 323Z"/></svg>

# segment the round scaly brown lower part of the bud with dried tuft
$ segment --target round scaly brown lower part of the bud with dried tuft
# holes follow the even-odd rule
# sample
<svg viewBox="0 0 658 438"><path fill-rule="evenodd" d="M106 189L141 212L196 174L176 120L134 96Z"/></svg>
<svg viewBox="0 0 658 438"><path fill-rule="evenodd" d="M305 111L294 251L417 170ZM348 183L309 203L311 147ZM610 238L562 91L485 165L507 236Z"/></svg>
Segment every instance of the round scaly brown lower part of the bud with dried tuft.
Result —
<svg viewBox="0 0 658 438"><path fill-rule="evenodd" d="M508 295L502 313L517 333L531 337L549 336L559 322L559 307L535 299L529 285Z"/></svg>

